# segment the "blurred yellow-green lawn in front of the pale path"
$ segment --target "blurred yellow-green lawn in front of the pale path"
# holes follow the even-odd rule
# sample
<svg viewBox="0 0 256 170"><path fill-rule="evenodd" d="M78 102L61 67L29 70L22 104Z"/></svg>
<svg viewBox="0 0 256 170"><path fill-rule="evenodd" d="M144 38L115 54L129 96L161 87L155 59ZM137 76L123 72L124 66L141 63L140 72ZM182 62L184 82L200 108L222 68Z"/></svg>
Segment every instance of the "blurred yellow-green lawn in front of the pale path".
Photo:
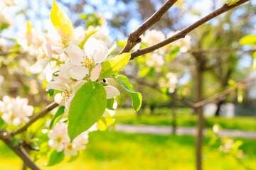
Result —
<svg viewBox="0 0 256 170"><path fill-rule="evenodd" d="M242 140L247 157L240 159L250 167L256 167L256 140ZM218 145L203 147L203 168L208 170L245 169L234 157L223 154ZM22 162L3 143L0 143L1 169L21 169ZM37 164L42 169L60 170L130 170L130 169L194 169L194 137L125 134L122 132L92 132L85 152L75 162L63 162L45 167L45 159Z"/></svg>

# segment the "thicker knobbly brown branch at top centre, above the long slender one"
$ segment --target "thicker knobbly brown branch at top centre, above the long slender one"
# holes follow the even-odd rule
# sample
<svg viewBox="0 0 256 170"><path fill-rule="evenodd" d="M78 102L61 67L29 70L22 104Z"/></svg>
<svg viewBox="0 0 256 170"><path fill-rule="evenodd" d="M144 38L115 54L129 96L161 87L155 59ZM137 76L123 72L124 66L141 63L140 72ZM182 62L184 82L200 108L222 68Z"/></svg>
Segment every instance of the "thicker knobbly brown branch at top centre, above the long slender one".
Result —
<svg viewBox="0 0 256 170"><path fill-rule="evenodd" d="M161 17L164 16L164 13L166 13L169 10L169 8L171 8L171 6L174 5L176 1L177 0L166 1L166 3L163 6L161 6L161 8L159 8L159 10L156 11L149 19L142 23L142 25L139 26L139 28L130 33L128 36L127 44L124 46L120 54L124 52L129 52L135 45L137 45L137 43L141 42L142 39L139 38L139 36L142 35L147 29L149 29L155 23L160 21Z"/></svg>

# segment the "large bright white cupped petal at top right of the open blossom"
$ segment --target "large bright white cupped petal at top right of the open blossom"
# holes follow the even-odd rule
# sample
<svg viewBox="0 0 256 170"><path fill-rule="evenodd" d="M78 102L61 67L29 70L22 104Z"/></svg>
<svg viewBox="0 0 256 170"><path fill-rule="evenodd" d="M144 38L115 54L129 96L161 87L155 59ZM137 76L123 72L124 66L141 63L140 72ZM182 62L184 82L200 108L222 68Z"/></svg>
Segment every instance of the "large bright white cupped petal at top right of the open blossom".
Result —
<svg viewBox="0 0 256 170"><path fill-rule="evenodd" d="M107 59L108 48L105 42L99 41L96 38L89 38L85 42L85 55L92 56L95 64L104 62Z"/></svg>

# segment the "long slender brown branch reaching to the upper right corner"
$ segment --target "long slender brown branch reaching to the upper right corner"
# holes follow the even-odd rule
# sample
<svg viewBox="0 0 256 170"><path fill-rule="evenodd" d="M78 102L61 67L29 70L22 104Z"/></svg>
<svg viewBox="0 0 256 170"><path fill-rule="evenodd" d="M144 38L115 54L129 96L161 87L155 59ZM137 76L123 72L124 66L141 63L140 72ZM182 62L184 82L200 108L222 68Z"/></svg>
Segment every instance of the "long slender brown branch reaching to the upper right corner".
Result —
<svg viewBox="0 0 256 170"><path fill-rule="evenodd" d="M207 21L210 21L212 18L215 18L216 16L219 16L220 14L222 14L226 11L229 11L232 8L235 8L236 6L240 6L241 4L244 4L247 1L249 1L249 0L240 0L232 6L228 6L227 4L224 4L221 8L218 8L217 10L208 14L207 16L201 18L200 20L196 21L196 23L193 23L191 26L188 26L187 28L181 30L179 33L176 33L172 37L167 38L166 40L163 40L161 42L158 42L155 45L151 45L144 49L139 49L137 51L132 52L130 60L133 60L135 57L138 57L140 55L144 55L146 53L153 52L154 50L164 47L165 45L168 45L169 43L174 42L178 39L185 38L185 36L188 33L190 33L192 30L195 30L199 26L203 25L203 23L206 23ZM128 42L127 42L127 44L128 44Z"/></svg>

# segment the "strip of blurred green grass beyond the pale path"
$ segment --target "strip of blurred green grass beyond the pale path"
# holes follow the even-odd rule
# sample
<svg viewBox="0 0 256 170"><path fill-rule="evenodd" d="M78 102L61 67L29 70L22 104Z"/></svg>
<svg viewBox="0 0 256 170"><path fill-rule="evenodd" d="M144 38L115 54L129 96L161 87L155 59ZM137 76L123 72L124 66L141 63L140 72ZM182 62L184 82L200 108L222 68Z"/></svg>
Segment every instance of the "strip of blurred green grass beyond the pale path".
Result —
<svg viewBox="0 0 256 170"><path fill-rule="evenodd" d="M176 123L178 126L195 126L197 116L192 115L188 108L176 109ZM172 116L171 110L167 108L156 109L154 115L150 115L148 111L139 117L134 113L132 108L119 108L116 114L116 123L127 124L143 124L143 125L171 125ZM211 128L215 123L218 123L222 128L235 130L254 130L256 131L255 117L237 116L235 118L214 117L206 118L206 127Z"/></svg>

